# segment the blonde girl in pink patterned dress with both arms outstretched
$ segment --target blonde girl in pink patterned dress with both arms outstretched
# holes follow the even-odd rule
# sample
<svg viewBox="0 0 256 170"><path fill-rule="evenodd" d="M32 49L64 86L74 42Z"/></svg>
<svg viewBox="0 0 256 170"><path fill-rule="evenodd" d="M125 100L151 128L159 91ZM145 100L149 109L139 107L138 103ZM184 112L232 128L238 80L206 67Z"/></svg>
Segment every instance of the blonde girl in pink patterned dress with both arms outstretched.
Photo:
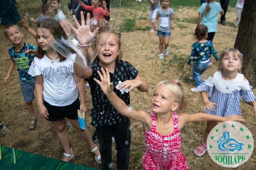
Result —
<svg viewBox="0 0 256 170"><path fill-rule="evenodd" d="M113 92L108 69L105 72L101 68L101 71L102 74L98 71L101 81L95 78L94 81L100 85L111 104L120 114L142 123L147 144L143 156L143 168L146 170L161 170L162 167L165 170L188 169L186 158L180 152L180 129L185 123L244 121L242 116L236 115L221 117L205 113L179 113L186 109L186 98L178 80L161 81L156 85L150 102L151 112L132 110Z"/></svg>

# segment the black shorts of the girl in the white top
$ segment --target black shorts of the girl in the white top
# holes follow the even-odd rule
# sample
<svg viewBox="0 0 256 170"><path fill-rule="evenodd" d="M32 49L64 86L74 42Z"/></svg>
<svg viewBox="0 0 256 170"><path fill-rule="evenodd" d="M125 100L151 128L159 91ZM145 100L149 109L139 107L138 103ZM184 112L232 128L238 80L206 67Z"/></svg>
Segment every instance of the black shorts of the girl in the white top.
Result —
<svg viewBox="0 0 256 170"><path fill-rule="evenodd" d="M80 100L77 98L76 101L68 106L52 106L44 101L44 106L49 113L49 119L47 119L48 121L61 121L65 117L76 120L78 119L77 110L80 108Z"/></svg>

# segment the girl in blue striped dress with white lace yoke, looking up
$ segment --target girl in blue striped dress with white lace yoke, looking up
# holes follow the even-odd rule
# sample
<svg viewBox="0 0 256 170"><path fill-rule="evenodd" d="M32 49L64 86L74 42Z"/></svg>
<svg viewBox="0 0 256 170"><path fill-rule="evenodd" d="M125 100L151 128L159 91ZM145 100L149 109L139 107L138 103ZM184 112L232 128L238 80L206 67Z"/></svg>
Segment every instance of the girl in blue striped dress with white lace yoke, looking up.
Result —
<svg viewBox="0 0 256 170"><path fill-rule="evenodd" d="M255 96L252 92L252 86L244 75L239 73L242 67L242 54L236 48L228 48L220 55L219 70L210 76L197 89L201 93L202 100L205 104L205 113L229 116L239 115L240 97L250 106L252 113L256 114ZM207 97L208 92L208 97ZM255 117L256 120L256 117ZM207 137L217 122L207 122L204 143L195 149L197 156L202 156L207 150Z"/></svg>

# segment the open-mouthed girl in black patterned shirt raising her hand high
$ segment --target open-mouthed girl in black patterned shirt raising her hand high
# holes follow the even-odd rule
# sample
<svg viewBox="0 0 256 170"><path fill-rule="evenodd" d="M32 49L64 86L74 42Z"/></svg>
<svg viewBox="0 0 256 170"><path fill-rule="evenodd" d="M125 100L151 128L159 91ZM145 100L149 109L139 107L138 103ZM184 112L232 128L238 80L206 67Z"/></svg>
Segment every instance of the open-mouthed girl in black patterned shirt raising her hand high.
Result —
<svg viewBox="0 0 256 170"><path fill-rule="evenodd" d="M88 50L92 38L98 32L98 28L91 32L90 15L87 14L86 25L84 24L84 15L81 12L82 25L80 26L75 16L73 16L77 28L71 26L76 33L79 41L79 46L85 51ZM91 32L91 33L90 33ZM91 39L90 39L91 37ZM87 44L88 43L88 44ZM129 155L131 146L131 130L130 119L120 115L116 109L108 101L107 96L103 94L100 86L93 80L99 79L97 71L100 68L108 68L110 72L111 82L114 85L118 83L119 88L115 88L114 92L122 98L128 105L130 104L130 91L137 88L141 92L148 91L148 83L139 76L139 71L136 70L129 62L121 60L121 35L110 28L103 29L96 36L96 51L99 51L98 56L92 63L89 70L84 70L79 64L74 64L76 75L85 78L91 88L92 94L92 125L95 126L96 135L100 144L100 154L102 160L102 169L110 169L109 164L112 163L112 135L116 142L116 166L117 169L128 170ZM87 51L88 52L88 51ZM121 81L121 82L119 82ZM129 91L121 92L130 88ZM120 91L121 90L121 91Z"/></svg>

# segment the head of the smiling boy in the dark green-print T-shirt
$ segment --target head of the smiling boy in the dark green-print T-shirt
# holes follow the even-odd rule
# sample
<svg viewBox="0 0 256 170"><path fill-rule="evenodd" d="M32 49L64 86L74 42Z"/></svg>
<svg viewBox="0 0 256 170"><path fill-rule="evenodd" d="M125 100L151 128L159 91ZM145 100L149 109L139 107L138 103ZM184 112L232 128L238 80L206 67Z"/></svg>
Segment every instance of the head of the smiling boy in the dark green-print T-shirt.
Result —
<svg viewBox="0 0 256 170"><path fill-rule="evenodd" d="M7 39L14 45L22 42L23 33L16 26L10 27L5 34Z"/></svg>

